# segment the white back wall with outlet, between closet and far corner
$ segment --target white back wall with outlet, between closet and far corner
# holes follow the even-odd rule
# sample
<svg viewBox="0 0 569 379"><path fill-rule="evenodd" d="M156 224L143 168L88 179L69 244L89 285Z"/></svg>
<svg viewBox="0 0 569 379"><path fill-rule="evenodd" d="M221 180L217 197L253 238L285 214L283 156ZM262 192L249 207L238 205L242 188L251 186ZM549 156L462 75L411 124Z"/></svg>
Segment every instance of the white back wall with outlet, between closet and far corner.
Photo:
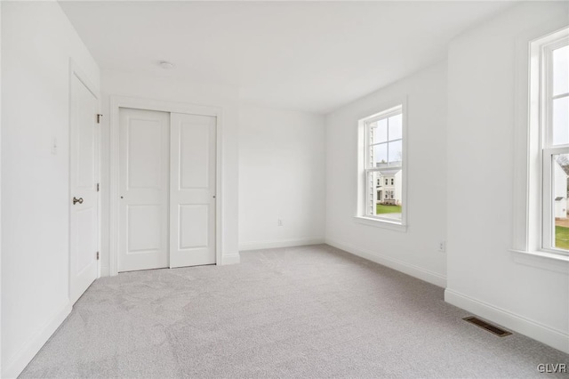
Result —
<svg viewBox="0 0 569 379"><path fill-rule="evenodd" d="M239 111L240 250L324 242L324 117L247 104Z"/></svg>

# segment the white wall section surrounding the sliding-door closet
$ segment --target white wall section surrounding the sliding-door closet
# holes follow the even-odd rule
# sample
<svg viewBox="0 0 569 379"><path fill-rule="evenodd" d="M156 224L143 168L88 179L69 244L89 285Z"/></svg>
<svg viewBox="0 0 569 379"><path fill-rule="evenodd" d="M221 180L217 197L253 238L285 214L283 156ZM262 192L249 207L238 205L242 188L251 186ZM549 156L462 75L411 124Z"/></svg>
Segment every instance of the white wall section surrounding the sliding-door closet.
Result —
<svg viewBox="0 0 569 379"><path fill-rule="evenodd" d="M110 96L121 95L141 99L175 101L220 107L222 125L222 259L224 263L239 262L237 246L237 191L238 191L238 123L239 106L237 90L218 85L200 85L173 80L164 71L163 76L140 77L127 72L103 71L101 73L101 101L103 123L101 125L101 275L109 272L109 173L110 173Z"/></svg>

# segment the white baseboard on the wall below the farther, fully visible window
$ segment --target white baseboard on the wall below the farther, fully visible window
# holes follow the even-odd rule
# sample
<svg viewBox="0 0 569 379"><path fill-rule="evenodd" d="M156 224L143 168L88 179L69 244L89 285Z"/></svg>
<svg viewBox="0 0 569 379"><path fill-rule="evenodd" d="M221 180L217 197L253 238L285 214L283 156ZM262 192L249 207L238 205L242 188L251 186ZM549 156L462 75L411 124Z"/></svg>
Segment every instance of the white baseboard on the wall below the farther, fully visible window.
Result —
<svg viewBox="0 0 569 379"><path fill-rule="evenodd" d="M430 284L434 284L435 286L441 286L443 288L446 286L446 277L444 275L438 274L437 272L425 270L413 264L401 262L391 257L378 254L376 252L349 246L339 241L335 241L331 238L326 238L325 243L347 251L350 254L354 254L361 258L367 259L368 261L380 263L381 265L387 266L390 269L404 272L405 274L411 275L414 278L420 278L421 280L429 282Z"/></svg>

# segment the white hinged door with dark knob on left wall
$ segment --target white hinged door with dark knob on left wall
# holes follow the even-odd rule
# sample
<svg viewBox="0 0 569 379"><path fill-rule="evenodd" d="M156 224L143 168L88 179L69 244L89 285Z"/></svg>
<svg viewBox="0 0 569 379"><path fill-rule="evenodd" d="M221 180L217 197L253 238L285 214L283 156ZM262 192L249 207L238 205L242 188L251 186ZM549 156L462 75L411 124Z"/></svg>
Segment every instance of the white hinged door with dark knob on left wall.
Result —
<svg viewBox="0 0 569 379"><path fill-rule="evenodd" d="M99 133L97 98L76 75L70 98L69 298L74 303L97 278Z"/></svg>

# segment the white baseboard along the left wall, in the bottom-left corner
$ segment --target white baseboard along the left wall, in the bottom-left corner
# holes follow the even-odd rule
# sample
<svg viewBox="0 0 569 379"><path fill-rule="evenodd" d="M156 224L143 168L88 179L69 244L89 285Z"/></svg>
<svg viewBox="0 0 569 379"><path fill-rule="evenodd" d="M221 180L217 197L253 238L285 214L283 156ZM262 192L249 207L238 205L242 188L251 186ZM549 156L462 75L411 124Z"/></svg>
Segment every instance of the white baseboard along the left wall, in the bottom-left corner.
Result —
<svg viewBox="0 0 569 379"><path fill-rule="evenodd" d="M41 327L35 335L24 343L24 345L17 351L11 359L7 362L3 362L2 365L2 377L3 378L16 378L21 374L24 368L28 366L28 363L34 359L44 343L50 339L53 332L60 327L61 323L68 317L71 312L72 306L68 302L65 306L50 320L48 320L44 327Z"/></svg>

